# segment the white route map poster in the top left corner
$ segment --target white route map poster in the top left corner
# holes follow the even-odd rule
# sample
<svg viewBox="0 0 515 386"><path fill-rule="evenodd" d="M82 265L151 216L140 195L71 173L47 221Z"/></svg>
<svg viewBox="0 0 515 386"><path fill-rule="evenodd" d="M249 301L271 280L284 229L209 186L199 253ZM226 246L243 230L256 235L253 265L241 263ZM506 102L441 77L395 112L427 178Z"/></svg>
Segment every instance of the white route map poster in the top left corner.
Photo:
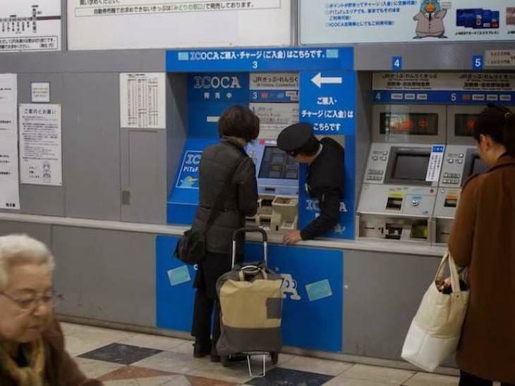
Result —
<svg viewBox="0 0 515 386"><path fill-rule="evenodd" d="M0 52L61 49L61 0L1 0L0 4Z"/></svg>

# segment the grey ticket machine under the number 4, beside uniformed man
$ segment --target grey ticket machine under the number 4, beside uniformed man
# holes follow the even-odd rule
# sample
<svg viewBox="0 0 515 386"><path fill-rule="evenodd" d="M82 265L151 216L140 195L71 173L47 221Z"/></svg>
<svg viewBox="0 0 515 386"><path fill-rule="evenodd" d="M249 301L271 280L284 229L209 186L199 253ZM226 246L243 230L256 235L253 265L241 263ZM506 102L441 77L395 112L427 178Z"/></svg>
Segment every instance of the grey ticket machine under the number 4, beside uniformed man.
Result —
<svg viewBox="0 0 515 386"><path fill-rule="evenodd" d="M430 243L444 155L445 106L376 104L357 211L360 238Z"/></svg>

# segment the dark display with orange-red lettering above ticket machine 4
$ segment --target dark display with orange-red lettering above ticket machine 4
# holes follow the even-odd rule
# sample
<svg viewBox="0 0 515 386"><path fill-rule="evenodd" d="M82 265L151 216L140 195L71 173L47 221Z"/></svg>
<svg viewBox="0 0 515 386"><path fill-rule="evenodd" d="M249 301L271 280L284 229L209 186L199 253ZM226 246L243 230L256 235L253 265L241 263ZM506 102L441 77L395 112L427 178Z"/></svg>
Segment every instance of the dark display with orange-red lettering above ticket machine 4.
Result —
<svg viewBox="0 0 515 386"><path fill-rule="evenodd" d="M381 113L380 134L438 135L438 114Z"/></svg>

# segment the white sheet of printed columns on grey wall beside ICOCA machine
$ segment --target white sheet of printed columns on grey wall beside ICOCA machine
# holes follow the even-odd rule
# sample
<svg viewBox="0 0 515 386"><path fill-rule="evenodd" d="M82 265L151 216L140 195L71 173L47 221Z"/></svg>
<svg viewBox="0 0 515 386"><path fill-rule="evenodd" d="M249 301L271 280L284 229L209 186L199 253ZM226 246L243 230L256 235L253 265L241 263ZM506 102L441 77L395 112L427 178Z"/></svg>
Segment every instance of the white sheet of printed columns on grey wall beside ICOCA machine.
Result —
<svg viewBox="0 0 515 386"><path fill-rule="evenodd" d="M120 74L121 127L166 128L164 73Z"/></svg>

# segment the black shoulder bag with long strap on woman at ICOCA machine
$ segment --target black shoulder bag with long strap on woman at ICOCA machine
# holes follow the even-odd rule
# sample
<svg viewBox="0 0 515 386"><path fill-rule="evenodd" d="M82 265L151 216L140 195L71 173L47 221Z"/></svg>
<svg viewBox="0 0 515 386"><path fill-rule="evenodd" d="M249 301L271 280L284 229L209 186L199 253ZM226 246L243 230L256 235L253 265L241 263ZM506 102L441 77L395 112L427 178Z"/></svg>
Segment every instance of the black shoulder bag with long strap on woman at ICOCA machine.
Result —
<svg viewBox="0 0 515 386"><path fill-rule="evenodd" d="M200 229L190 228L186 230L181 238L178 240L175 247L174 255L185 264L194 266L195 264L202 263L205 259L206 253L206 236L207 231L210 230L214 220L221 213L222 203L224 201L224 193L231 186L231 182L238 168L240 160L236 161L236 165L231 169L229 176L225 180L222 190L219 192L217 199L214 201L214 205L211 208L210 216L207 218L205 226Z"/></svg>

